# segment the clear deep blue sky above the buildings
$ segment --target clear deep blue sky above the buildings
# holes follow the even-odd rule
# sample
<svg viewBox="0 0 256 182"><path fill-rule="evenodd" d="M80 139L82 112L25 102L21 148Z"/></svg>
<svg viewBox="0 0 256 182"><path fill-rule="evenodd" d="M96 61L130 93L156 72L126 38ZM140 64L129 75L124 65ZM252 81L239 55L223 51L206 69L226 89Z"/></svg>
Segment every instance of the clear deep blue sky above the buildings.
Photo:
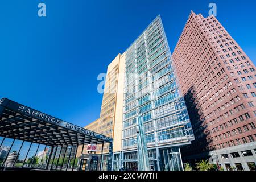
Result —
<svg viewBox="0 0 256 182"><path fill-rule="evenodd" d="M158 14L173 51L190 11L207 16L210 2L255 63L255 1L2 0L0 97L85 126L100 115L97 76L118 53Z"/></svg>

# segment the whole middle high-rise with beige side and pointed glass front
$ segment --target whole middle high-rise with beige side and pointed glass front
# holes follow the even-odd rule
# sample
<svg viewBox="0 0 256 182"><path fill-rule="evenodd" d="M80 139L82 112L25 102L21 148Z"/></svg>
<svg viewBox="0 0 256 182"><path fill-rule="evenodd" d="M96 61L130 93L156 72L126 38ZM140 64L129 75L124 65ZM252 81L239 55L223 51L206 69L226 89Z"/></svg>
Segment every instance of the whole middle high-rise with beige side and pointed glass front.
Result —
<svg viewBox="0 0 256 182"><path fill-rule="evenodd" d="M182 170L180 147L194 137L160 16L109 65L100 118L86 126L113 137L113 170L138 170L137 109L150 169Z"/></svg>

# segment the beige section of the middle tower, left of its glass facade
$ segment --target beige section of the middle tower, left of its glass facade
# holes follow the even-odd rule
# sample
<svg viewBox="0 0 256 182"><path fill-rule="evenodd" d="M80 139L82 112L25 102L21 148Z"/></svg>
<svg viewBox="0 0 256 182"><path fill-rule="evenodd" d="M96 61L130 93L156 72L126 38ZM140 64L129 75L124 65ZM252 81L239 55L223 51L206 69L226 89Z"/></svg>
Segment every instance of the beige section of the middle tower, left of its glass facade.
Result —
<svg viewBox="0 0 256 182"><path fill-rule="evenodd" d="M118 54L108 65L100 118L85 126L88 130L114 138L113 152L121 151L124 68L124 55ZM79 147L77 155L87 154L86 147L83 152L81 151L82 146ZM96 154L101 154L101 151L102 145L98 145ZM108 154L108 152L109 144L105 144L103 154ZM103 170L107 168L107 160L108 155L103 155Z"/></svg>

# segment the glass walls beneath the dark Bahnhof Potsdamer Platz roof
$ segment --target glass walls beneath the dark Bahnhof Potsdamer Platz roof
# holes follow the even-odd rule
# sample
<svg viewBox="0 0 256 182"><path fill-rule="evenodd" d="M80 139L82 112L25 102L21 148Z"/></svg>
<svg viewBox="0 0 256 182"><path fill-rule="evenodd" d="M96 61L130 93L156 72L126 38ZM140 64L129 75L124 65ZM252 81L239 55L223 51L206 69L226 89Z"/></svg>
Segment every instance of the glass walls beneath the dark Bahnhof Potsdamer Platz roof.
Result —
<svg viewBox="0 0 256 182"><path fill-rule="evenodd" d="M46 169L80 171L84 150L77 152L77 145L46 146L18 139L0 137L0 168ZM83 147L85 148L85 147ZM101 170L108 170L108 155L102 155ZM94 160L92 160L94 161ZM97 164L91 165L99 169Z"/></svg>

